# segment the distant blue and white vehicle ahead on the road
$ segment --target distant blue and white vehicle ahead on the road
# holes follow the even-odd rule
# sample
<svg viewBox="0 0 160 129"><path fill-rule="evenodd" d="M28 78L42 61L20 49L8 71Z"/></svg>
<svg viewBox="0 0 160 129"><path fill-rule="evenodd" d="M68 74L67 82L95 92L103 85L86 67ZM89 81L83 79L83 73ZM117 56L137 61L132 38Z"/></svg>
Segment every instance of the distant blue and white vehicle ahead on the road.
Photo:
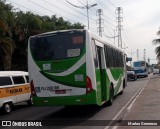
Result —
<svg viewBox="0 0 160 129"><path fill-rule="evenodd" d="M137 77L139 76L148 77L148 64L145 61L133 62L133 70L137 74Z"/></svg>

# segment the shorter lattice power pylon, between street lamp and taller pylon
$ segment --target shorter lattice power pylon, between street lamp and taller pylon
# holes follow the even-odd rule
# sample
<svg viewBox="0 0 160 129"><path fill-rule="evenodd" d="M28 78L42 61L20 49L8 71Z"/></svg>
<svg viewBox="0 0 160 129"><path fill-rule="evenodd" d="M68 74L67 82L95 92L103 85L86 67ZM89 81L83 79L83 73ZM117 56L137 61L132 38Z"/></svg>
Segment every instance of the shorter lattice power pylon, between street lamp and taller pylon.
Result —
<svg viewBox="0 0 160 129"><path fill-rule="evenodd" d="M103 11L102 9L98 9L97 10L97 15L99 16L99 19L97 20L98 21L98 32L99 32L99 36L102 37L102 31L103 31L103 27L102 27L102 22L103 22L103 19L101 18L101 15L103 15Z"/></svg>

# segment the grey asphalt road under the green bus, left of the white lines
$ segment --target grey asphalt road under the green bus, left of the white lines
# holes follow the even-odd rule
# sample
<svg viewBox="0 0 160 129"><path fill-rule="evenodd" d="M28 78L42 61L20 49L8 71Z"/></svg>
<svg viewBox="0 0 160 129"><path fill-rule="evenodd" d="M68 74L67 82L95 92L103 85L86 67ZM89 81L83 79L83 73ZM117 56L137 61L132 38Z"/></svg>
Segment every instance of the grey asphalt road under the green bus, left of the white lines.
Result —
<svg viewBox="0 0 160 129"><path fill-rule="evenodd" d="M149 78L140 78L137 81L128 81L128 86L125 88L123 95L118 95L112 106L78 106L78 107L34 107L27 106L26 103L16 105L11 114L0 114L0 120L29 120L29 121L47 121L53 125L53 122L60 120L62 126L43 126L37 129L104 129L106 128L107 120L115 119L116 116L123 115L123 108L129 102L135 93L143 87ZM120 113L120 111L122 111ZM120 113L120 114L117 114ZM118 116L119 115L119 116ZM119 118L118 118L119 119ZM43 123L42 122L42 123ZM68 125L67 125L68 124ZM43 125L43 124L42 124ZM88 125L88 126L87 126ZM83 127L82 127L83 126ZM7 128L7 127L3 127ZM11 129L11 127L8 127ZM15 129L35 129L36 127L12 127ZM2 129L2 128L1 128Z"/></svg>

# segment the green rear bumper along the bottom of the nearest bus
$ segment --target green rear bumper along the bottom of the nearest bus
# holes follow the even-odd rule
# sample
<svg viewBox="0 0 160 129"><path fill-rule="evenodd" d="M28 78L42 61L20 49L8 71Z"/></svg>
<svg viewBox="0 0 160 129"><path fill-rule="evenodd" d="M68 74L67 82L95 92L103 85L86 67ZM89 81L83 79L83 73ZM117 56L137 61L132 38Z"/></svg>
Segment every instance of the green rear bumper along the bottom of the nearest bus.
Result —
<svg viewBox="0 0 160 129"><path fill-rule="evenodd" d="M63 97L33 97L35 106L65 106L65 105L91 105L97 104L96 92L79 96Z"/></svg>

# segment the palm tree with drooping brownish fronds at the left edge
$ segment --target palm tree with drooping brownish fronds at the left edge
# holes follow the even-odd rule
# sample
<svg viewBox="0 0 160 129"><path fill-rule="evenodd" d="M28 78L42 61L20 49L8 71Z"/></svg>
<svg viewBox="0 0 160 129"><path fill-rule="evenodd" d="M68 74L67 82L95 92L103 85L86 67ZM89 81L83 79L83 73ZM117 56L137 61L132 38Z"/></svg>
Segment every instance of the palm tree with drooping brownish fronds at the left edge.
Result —
<svg viewBox="0 0 160 129"><path fill-rule="evenodd" d="M0 70L11 68L12 54L15 48L6 20L11 8L10 4L5 4L4 0L0 0Z"/></svg>

